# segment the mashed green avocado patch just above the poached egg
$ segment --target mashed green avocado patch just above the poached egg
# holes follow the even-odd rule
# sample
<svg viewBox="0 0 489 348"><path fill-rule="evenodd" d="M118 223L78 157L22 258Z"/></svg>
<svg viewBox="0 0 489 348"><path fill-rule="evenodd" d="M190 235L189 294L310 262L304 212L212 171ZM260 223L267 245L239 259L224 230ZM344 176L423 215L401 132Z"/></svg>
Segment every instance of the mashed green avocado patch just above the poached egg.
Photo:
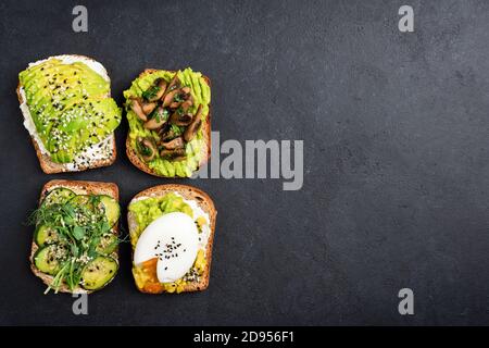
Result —
<svg viewBox="0 0 489 348"><path fill-rule="evenodd" d="M184 201L181 196L173 192L161 197L150 197L138 200L129 206L129 211L135 215L137 229L130 233L130 243L136 247L136 243L142 231L161 215L183 212L193 219L193 211L189 204Z"/></svg>

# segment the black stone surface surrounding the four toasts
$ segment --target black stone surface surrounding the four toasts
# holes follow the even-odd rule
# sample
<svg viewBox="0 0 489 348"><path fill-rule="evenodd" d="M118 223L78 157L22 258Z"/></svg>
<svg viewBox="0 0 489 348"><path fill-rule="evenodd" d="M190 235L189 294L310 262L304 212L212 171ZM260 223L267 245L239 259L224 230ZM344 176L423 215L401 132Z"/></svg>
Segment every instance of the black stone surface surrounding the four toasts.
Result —
<svg viewBox="0 0 489 348"><path fill-rule="evenodd" d="M87 34L72 30L78 3ZM398 29L404 3L412 34ZM489 2L2 1L0 13L1 324L489 323ZM204 72L222 140L304 140L303 188L151 177L124 154L125 121L114 165L43 174L15 87L28 62L60 53L103 63L120 104L145 67ZM123 207L156 184L208 191L210 288L139 294L124 245L89 315L42 295L23 223L52 178L115 182ZM398 313L403 287L413 316Z"/></svg>

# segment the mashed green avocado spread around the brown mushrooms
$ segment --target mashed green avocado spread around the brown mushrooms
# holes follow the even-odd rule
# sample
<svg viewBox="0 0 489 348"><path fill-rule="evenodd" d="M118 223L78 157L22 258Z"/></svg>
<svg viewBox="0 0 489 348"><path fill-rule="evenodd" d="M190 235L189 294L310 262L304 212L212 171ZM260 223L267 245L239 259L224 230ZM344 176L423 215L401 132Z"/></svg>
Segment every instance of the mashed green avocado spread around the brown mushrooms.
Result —
<svg viewBox="0 0 489 348"><path fill-rule="evenodd" d="M181 87L188 86L191 88L191 95L193 97L193 105L189 111L195 114L198 107L202 104L202 122L209 115L209 104L211 102L211 88L202 77L201 73L193 72L190 67L184 71L179 71L178 79L181 83ZM124 91L124 98L126 99L127 121L129 122L129 139L133 149L137 149L138 137L153 138L158 140L159 136L155 130L150 130L143 127L143 123L138 119L136 113L130 109L130 98L142 97L142 94L147 91L154 83L156 78L163 78L167 83L175 75L174 72L168 71L155 71L149 74L145 74L141 77L136 78L130 88ZM197 136L185 146L186 159L183 161L171 161L161 158L159 154L151 161L147 162L148 166L152 169L160 176L180 176L190 177L192 172L199 167L201 161L201 150L205 146L204 135L202 127L197 133ZM138 151L136 150L138 153Z"/></svg>

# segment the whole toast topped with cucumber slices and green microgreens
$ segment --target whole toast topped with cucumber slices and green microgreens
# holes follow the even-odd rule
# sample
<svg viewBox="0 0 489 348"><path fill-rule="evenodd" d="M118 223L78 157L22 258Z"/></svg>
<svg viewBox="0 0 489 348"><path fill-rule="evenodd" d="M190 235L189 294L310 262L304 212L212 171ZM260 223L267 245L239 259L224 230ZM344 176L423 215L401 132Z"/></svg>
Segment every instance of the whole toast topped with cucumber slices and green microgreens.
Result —
<svg viewBox="0 0 489 348"><path fill-rule="evenodd" d="M113 183L51 181L30 223L30 269L47 293L89 294L118 270L118 188Z"/></svg>

